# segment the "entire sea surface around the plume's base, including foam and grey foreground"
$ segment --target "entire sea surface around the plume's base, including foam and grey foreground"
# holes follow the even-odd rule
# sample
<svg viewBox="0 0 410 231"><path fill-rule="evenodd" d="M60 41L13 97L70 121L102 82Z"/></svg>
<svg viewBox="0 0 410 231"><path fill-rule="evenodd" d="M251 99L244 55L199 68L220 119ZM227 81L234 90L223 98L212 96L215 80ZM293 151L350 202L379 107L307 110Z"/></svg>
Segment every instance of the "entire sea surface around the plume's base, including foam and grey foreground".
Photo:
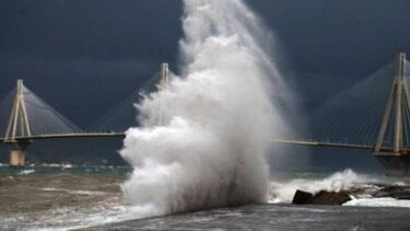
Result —
<svg viewBox="0 0 410 231"><path fill-rule="evenodd" d="M0 166L1 230L409 230L410 203L354 198L344 206L291 205L295 188L306 190L371 187L378 181L339 173L288 172L272 180L269 204L219 208L155 218L133 213L120 185L131 169L121 166ZM330 188L329 188L330 187Z"/></svg>

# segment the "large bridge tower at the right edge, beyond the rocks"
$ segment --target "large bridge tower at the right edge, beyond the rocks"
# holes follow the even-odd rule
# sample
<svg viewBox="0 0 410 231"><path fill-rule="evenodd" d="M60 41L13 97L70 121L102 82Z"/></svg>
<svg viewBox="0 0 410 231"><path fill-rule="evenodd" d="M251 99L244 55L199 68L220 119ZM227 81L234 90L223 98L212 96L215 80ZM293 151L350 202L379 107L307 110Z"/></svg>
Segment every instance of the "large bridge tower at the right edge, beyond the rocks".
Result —
<svg viewBox="0 0 410 231"><path fill-rule="evenodd" d="M410 155L403 147L405 117L410 115L409 92L405 79L406 54L397 55L395 77L379 127L374 155L386 168L387 175L410 173ZM388 128L393 136L388 136ZM386 142L393 143L386 148Z"/></svg>

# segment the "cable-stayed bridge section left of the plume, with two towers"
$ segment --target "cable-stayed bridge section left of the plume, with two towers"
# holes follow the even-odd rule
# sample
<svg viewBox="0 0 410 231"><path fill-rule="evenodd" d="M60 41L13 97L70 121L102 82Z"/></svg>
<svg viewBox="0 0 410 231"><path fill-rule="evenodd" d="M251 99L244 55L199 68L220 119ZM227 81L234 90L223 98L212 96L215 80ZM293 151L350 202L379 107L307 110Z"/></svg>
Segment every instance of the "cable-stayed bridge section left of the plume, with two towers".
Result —
<svg viewBox="0 0 410 231"><path fill-rule="evenodd" d="M124 137L125 130L136 122L133 103L142 94L162 90L173 73L167 63L147 81L141 89L103 116L91 128L83 130L62 116L17 80L15 88L0 102L0 141L10 145L10 165L25 164L25 150L39 139L86 137ZM119 123L118 123L119 122Z"/></svg>

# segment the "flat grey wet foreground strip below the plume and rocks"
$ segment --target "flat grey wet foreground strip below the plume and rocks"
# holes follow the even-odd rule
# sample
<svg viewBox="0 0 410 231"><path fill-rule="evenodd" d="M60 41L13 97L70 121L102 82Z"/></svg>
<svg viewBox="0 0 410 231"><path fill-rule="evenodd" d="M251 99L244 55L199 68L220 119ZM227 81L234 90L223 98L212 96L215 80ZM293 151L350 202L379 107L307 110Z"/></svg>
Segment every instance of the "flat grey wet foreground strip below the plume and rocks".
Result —
<svg viewBox="0 0 410 231"><path fill-rule="evenodd" d="M253 205L134 220L92 230L409 230L409 209Z"/></svg>

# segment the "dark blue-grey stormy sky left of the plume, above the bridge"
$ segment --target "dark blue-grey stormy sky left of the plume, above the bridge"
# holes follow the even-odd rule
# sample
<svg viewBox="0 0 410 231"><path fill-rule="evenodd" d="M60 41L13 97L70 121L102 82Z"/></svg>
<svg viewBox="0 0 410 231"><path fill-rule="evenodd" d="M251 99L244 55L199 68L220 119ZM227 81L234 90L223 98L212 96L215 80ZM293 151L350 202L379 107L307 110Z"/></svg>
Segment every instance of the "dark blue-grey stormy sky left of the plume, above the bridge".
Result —
<svg viewBox="0 0 410 231"><path fill-rule="evenodd" d="M1 1L0 96L23 78L86 126L175 62L180 10L173 0Z"/></svg>

